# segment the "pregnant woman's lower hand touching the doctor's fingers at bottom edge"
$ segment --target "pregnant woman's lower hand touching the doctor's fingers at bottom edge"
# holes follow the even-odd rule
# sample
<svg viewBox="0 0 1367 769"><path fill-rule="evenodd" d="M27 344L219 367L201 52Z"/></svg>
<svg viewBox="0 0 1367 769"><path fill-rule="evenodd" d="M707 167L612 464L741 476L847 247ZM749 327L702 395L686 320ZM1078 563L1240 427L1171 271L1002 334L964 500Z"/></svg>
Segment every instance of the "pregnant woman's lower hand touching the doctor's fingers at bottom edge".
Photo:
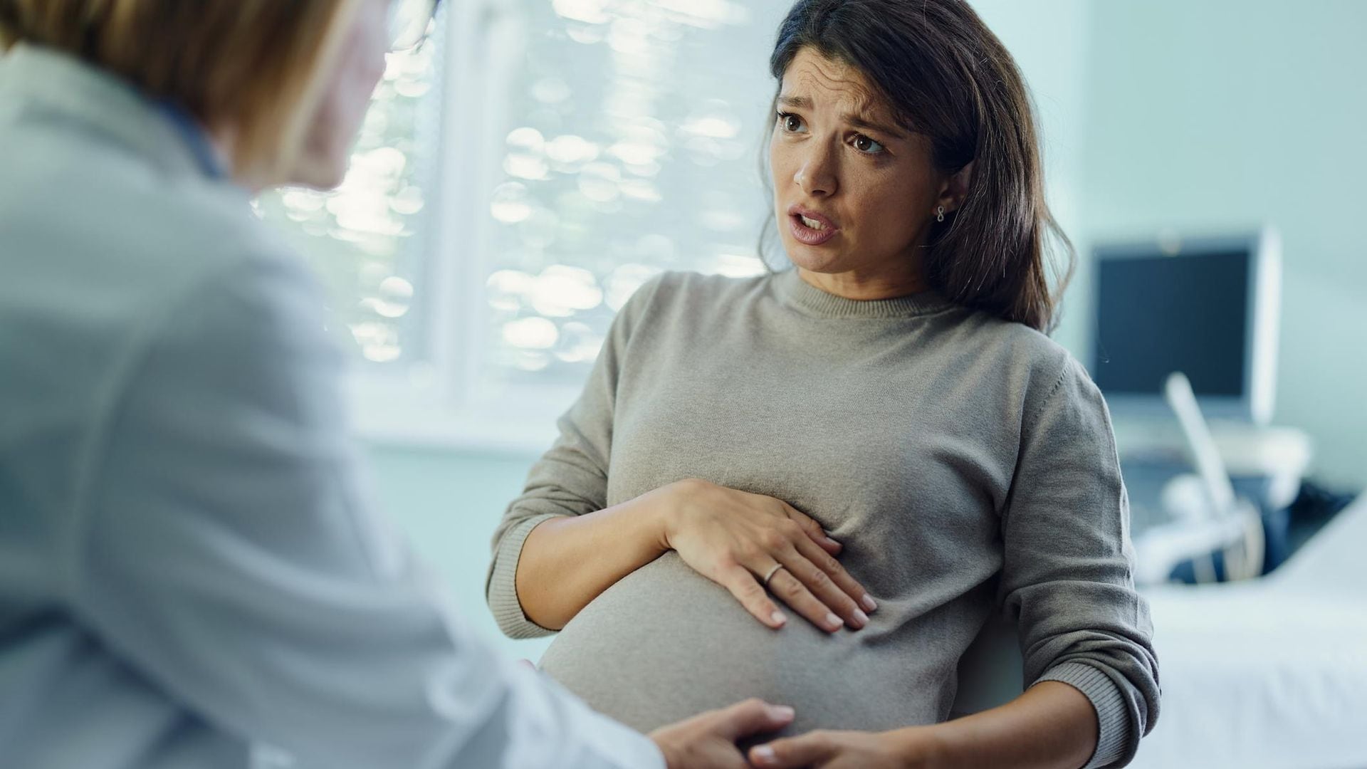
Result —
<svg viewBox="0 0 1367 769"><path fill-rule="evenodd" d="M815 731L750 748L759 769L921 769L931 742L921 728L893 732Z"/></svg>

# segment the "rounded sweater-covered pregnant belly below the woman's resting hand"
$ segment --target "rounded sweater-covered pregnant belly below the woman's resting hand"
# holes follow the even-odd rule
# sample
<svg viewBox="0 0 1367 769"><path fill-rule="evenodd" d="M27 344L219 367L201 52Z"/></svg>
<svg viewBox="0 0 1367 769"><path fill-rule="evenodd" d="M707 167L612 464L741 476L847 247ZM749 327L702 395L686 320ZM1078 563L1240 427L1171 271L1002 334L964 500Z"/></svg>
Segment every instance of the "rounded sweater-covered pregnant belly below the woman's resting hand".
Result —
<svg viewBox="0 0 1367 769"><path fill-rule="evenodd" d="M541 668L642 732L748 696L794 706L789 732L891 729L949 712L953 676L908 649L906 628L890 627L895 612L834 635L786 613L782 629L761 625L670 553L580 612Z"/></svg>

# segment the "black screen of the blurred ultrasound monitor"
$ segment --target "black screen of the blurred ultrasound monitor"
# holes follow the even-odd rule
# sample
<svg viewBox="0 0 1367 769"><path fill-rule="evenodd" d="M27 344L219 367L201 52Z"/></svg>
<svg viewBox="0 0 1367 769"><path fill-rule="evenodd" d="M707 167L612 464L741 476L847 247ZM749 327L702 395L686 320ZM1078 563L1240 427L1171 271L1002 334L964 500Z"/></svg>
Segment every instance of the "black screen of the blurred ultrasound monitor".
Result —
<svg viewBox="0 0 1367 769"><path fill-rule="evenodd" d="M1094 378L1159 394L1181 371L1197 395L1244 395L1248 252L1100 259Z"/></svg>

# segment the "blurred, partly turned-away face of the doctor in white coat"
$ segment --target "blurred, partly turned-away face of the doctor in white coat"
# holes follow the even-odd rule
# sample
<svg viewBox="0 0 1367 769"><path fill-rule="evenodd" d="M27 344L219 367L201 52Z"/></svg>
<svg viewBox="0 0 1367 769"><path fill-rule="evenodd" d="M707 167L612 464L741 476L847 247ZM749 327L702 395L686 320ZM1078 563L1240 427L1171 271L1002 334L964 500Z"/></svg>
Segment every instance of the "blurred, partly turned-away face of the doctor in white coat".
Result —
<svg viewBox="0 0 1367 769"><path fill-rule="evenodd" d="M344 31L323 100L309 125L303 152L290 183L332 189L346 177L351 145L370 107L375 86L384 77L388 52L388 11L392 0L361 0L351 27Z"/></svg>

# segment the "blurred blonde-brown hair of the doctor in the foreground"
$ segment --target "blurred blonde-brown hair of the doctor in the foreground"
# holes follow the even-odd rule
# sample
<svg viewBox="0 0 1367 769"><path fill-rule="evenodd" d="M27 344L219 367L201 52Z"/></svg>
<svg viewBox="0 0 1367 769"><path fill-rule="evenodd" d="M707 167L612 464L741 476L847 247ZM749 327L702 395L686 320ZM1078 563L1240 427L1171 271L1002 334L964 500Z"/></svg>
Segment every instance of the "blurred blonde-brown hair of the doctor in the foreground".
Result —
<svg viewBox="0 0 1367 769"><path fill-rule="evenodd" d="M232 131L234 177L301 151L357 0L0 0L0 47L44 45Z"/></svg>

